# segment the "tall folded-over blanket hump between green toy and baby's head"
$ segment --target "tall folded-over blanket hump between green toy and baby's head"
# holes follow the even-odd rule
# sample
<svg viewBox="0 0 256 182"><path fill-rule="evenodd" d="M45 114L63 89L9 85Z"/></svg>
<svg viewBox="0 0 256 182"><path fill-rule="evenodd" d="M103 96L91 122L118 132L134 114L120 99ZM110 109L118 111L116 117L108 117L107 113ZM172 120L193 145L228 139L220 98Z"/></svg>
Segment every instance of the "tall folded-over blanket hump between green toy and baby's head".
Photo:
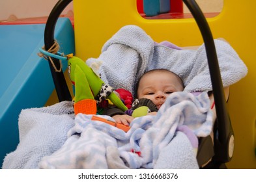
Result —
<svg viewBox="0 0 256 182"><path fill-rule="evenodd" d="M141 28L135 25L123 27L104 44L98 58L98 62L104 62L100 66L102 80L111 83L115 88L131 90L133 86L130 83L137 83L137 79L145 72L153 51L154 41ZM90 66L95 62L95 59L87 60Z"/></svg>

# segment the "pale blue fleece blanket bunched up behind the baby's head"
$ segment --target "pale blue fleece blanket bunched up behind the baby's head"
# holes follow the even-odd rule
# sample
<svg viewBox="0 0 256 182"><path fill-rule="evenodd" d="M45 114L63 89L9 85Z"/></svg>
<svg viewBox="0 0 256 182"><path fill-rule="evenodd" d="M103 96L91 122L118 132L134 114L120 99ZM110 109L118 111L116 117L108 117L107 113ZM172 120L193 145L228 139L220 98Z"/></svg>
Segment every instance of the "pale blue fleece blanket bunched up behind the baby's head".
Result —
<svg viewBox="0 0 256 182"><path fill-rule="evenodd" d="M227 42L214 40L223 86L233 85L246 76L248 69ZM205 45L197 50L180 50L154 40L136 25L126 25L102 47L97 59L87 60L98 66L102 79L113 88L125 88L134 94L135 85L148 70L165 68L177 73L186 92L212 90ZM122 70L122 72L120 72Z"/></svg>

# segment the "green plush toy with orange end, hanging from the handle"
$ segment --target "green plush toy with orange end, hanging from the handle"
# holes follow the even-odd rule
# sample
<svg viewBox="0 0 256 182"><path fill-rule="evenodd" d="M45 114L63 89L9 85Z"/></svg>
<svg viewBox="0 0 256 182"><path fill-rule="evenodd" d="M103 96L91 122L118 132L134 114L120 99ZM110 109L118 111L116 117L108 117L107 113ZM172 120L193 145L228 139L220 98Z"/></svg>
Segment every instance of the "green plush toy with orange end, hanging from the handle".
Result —
<svg viewBox="0 0 256 182"><path fill-rule="evenodd" d="M68 55L68 73L75 86L75 114L96 114L95 98L102 92L104 81L83 60L72 55ZM107 99L123 111L128 109L114 92L109 93Z"/></svg>

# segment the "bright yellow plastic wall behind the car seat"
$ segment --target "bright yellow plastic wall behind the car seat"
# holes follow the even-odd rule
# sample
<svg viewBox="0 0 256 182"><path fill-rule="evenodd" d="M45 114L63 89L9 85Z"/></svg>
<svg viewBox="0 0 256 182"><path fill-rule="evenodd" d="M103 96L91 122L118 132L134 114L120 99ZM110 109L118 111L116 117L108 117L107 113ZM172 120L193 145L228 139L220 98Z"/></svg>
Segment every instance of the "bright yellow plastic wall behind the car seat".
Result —
<svg viewBox="0 0 256 182"><path fill-rule="evenodd" d="M256 1L225 0L223 11L208 18L214 38L225 38L248 66L249 73L231 86L228 108L235 131L235 151L229 168L256 168ZM156 42L169 40L179 46L203 43L194 19L143 19L135 0L74 0L76 55L98 57L102 45L122 26L139 25Z"/></svg>

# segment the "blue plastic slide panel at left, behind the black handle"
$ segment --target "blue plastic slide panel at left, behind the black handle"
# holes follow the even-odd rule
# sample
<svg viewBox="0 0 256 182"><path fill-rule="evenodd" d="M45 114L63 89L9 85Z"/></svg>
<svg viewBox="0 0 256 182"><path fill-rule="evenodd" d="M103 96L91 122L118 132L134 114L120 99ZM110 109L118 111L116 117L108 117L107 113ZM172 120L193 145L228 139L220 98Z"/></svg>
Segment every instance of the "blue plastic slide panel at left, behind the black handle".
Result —
<svg viewBox="0 0 256 182"><path fill-rule="evenodd" d="M43 107L54 90L48 61L38 57L44 45L45 24L0 25L0 164L19 142L21 109ZM55 39L65 54L75 53L74 30L60 18ZM63 70L67 62L63 62Z"/></svg>

